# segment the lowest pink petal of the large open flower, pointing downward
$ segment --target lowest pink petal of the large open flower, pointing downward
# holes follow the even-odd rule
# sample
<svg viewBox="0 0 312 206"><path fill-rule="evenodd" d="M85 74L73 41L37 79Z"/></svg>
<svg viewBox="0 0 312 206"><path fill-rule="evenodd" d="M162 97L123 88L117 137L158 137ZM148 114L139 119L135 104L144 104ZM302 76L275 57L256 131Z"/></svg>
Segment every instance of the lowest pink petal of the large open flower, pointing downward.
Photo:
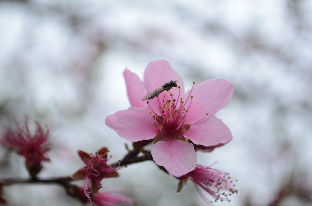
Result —
<svg viewBox="0 0 312 206"><path fill-rule="evenodd" d="M155 163L174 177L193 171L197 162L193 144L180 140L158 141L152 146L151 153Z"/></svg>

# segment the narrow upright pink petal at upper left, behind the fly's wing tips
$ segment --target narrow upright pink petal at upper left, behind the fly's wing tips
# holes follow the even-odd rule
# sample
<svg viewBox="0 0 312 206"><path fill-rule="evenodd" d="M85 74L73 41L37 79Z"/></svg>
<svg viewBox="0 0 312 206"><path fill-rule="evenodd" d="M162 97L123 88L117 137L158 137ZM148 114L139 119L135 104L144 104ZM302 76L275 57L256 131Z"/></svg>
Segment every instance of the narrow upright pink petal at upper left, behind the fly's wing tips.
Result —
<svg viewBox="0 0 312 206"><path fill-rule="evenodd" d="M146 102L143 102L141 98L146 94L143 82L139 76L130 70L124 70L124 80L127 86L127 94L131 106L137 106L139 108L146 108Z"/></svg>

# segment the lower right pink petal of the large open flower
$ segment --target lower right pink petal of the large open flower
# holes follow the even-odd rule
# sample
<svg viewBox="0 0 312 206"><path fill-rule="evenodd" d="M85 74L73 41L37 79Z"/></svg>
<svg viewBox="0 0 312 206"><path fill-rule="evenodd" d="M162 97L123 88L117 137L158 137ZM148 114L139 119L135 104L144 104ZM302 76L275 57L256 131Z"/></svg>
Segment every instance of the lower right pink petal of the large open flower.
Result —
<svg viewBox="0 0 312 206"><path fill-rule="evenodd" d="M205 147L226 144L232 140L231 130L215 115L208 115L196 124L192 124L183 136L189 138L194 144Z"/></svg>

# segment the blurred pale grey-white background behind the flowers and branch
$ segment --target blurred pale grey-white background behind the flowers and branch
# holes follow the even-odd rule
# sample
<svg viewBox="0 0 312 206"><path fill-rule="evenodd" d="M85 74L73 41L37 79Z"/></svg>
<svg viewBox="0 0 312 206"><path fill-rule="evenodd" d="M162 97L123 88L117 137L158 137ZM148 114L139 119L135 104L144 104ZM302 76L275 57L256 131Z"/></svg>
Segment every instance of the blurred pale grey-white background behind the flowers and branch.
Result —
<svg viewBox="0 0 312 206"><path fill-rule="evenodd" d="M218 77L234 83L231 103L216 114L233 140L198 153L198 164L217 162L238 179L231 203L215 206L312 205L310 0L2 0L0 130L26 115L31 128L38 120L51 130L41 178L82 167L78 149L106 146L115 162L129 142L105 118L130 106L122 72L143 77L154 59L168 59L186 90ZM5 154L0 147L0 179L27 177L24 160ZM102 183L103 191L132 191L138 206L206 205L191 182L176 194L178 180L153 162ZM58 185L3 193L9 205L80 205Z"/></svg>

